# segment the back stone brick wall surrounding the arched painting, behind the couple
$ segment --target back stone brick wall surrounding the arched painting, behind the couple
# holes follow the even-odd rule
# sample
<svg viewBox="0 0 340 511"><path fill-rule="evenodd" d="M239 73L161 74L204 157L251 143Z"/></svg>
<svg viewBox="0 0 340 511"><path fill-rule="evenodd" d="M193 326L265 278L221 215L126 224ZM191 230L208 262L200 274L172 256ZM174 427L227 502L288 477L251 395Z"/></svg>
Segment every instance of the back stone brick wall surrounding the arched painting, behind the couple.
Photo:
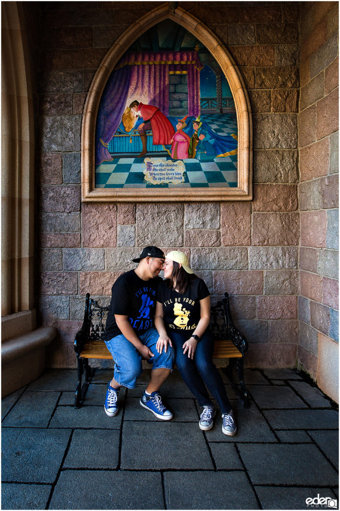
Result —
<svg viewBox="0 0 340 511"><path fill-rule="evenodd" d="M254 122L252 202L81 204L82 109L92 77L135 13L159 5L42 5L37 277L40 321L59 330L49 365L75 365L73 338L85 293L107 302L113 281L133 267L130 260L140 247L155 244L186 251L213 300L230 293L234 318L250 341L248 365L293 367L300 295L299 3L179 3L221 39L246 83ZM323 190L326 200L326 181ZM318 211L318 221L325 222L325 215ZM316 264L327 263L320 255ZM333 285L331 275L325 279L325 286ZM313 303L330 310L322 301Z"/></svg>

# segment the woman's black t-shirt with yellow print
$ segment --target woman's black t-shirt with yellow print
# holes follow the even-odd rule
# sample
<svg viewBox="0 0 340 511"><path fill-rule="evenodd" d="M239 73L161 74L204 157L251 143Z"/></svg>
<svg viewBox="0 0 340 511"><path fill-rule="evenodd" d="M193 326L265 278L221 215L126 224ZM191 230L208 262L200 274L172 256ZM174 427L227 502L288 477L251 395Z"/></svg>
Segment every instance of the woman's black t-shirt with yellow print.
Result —
<svg viewBox="0 0 340 511"><path fill-rule="evenodd" d="M193 332L201 317L199 300L210 295L204 281L197 277L189 280L185 293L177 293L169 289L170 280L167 279L159 285L157 301L163 305L164 323L171 332Z"/></svg>

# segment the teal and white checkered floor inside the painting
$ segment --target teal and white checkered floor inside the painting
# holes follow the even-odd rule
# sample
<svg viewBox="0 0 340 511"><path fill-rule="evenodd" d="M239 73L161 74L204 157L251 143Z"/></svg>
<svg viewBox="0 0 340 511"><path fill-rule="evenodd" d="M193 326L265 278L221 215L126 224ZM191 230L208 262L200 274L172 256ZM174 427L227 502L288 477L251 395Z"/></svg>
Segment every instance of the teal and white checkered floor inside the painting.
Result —
<svg viewBox="0 0 340 511"><path fill-rule="evenodd" d="M204 114L203 122L219 135L233 133L237 135L237 120L233 114ZM171 160L166 154L146 157L157 160ZM236 188L238 155L215 158L214 161L200 162L198 159L185 159L185 182L180 184L151 184L145 182L143 158L117 157L112 161L103 161L96 168L96 188Z"/></svg>

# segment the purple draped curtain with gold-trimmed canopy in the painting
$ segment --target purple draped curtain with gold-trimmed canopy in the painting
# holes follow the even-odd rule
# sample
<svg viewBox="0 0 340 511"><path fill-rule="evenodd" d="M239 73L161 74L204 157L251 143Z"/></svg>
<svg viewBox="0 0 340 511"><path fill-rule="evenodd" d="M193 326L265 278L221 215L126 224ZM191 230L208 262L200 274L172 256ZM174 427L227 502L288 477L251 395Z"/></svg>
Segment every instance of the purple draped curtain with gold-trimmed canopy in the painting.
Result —
<svg viewBox="0 0 340 511"><path fill-rule="evenodd" d="M200 111L198 54L189 52L129 52L111 74L101 97L96 126L96 165L111 161L107 147L117 130L127 99L146 96L149 104L169 115L169 73L188 73L188 115Z"/></svg>

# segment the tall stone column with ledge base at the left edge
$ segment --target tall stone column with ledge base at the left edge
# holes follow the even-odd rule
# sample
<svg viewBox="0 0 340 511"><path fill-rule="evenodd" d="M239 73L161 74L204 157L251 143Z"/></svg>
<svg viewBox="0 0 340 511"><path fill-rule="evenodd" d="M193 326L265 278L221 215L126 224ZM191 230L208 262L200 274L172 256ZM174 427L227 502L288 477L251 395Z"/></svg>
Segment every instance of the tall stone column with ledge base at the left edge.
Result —
<svg viewBox="0 0 340 511"><path fill-rule="evenodd" d="M3 396L39 376L44 346L56 334L35 330L34 114L21 8L2 3Z"/></svg>

